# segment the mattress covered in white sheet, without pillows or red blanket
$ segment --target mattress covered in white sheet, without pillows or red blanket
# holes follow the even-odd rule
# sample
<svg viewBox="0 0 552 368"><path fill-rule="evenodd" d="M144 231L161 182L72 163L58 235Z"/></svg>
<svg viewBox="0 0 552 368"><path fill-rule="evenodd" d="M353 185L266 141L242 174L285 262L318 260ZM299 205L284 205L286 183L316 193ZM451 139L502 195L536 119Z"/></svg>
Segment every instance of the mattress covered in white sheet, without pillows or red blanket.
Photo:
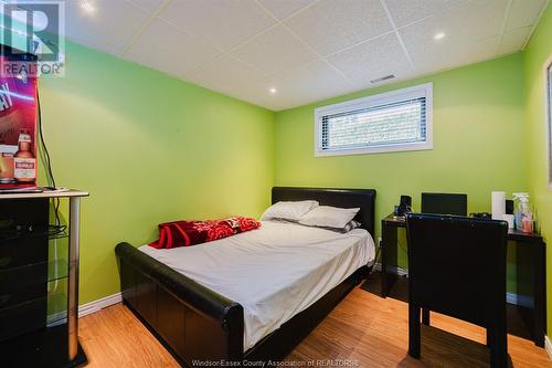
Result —
<svg viewBox="0 0 552 368"><path fill-rule="evenodd" d="M363 229L346 234L263 221L261 229L194 246L140 251L244 308L244 350L373 262Z"/></svg>

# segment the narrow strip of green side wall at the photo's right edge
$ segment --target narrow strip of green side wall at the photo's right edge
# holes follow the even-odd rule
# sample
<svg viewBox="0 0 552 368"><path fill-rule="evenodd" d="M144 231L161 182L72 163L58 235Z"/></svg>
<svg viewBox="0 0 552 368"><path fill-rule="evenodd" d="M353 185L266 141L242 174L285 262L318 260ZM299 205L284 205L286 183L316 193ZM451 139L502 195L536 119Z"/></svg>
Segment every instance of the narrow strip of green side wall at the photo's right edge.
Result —
<svg viewBox="0 0 552 368"><path fill-rule="evenodd" d="M528 137L529 188L544 238L549 241L548 333L552 332L552 190L548 187L545 119L545 64L552 62L552 6L549 4L523 53L526 80L526 129Z"/></svg>

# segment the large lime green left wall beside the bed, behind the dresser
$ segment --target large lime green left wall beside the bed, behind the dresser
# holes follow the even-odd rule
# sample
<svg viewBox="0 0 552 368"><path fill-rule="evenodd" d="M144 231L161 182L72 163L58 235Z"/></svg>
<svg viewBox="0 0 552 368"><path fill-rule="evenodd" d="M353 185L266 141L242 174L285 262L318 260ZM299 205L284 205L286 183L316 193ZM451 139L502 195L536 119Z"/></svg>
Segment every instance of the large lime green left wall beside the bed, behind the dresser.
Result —
<svg viewBox="0 0 552 368"><path fill-rule="evenodd" d="M119 291L118 242L268 206L274 113L79 45L66 55L65 77L41 78L40 93L57 185L91 192L81 304Z"/></svg>

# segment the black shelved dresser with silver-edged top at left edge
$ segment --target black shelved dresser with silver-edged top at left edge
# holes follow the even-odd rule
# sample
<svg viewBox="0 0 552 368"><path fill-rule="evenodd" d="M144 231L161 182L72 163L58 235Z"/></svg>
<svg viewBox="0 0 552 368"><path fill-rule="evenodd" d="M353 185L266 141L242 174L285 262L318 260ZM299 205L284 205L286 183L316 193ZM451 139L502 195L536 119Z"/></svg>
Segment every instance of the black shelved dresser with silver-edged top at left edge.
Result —
<svg viewBox="0 0 552 368"><path fill-rule="evenodd" d="M0 367L86 362L77 336L79 199L86 196L0 193ZM52 199L61 203L57 217ZM53 227L56 218L67 225Z"/></svg>

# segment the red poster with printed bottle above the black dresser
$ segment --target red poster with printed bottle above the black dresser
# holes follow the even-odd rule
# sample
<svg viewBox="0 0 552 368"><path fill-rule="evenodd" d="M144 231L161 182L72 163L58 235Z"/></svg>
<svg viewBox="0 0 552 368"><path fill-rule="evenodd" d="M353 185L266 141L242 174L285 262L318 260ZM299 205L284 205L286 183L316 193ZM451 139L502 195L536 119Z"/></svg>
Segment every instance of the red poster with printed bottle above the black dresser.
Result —
<svg viewBox="0 0 552 368"><path fill-rule="evenodd" d="M0 73L0 190L36 186L36 77Z"/></svg>

